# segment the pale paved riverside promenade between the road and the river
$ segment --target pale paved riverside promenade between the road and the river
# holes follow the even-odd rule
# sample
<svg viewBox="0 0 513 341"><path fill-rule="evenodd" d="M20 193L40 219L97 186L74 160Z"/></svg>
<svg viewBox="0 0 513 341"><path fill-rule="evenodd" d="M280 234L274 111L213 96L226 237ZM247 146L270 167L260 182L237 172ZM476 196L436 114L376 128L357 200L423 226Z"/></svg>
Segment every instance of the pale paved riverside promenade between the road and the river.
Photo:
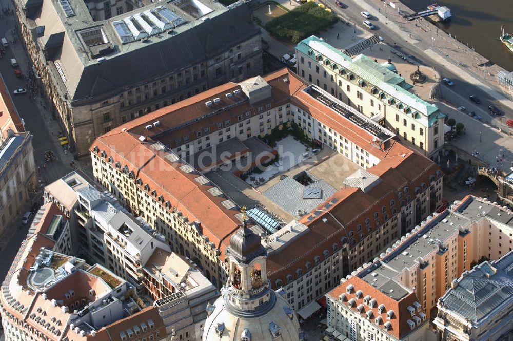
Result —
<svg viewBox="0 0 513 341"><path fill-rule="evenodd" d="M487 60L477 52L468 48L466 45L452 39L444 31L439 30L435 25L425 19L417 19L411 22L405 21L399 16L397 10L390 6L385 7L384 2L377 0L359 0L358 5L366 9L373 8L373 15L380 22L385 23L392 31L401 36L403 40L424 51L430 58L437 61L446 68L459 68L468 77L466 80L476 86L480 86L483 91L491 97L497 99L501 104L507 107L513 107L513 101L506 98L497 85L495 74L502 70L497 65L491 67L478 67L479 64ZM401 13L415 13L400 4ZM434 39L434 41L433 41ZM461 64L460 64L461 62Z"/></svg>

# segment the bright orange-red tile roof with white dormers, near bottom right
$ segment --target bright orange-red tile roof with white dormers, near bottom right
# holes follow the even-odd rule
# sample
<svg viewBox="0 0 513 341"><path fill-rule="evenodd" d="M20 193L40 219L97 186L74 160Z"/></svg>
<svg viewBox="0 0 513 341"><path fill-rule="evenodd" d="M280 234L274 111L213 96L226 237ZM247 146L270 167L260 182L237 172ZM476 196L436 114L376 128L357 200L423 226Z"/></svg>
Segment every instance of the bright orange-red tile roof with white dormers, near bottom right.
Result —
<svg viewBox="0 0 513 341"><path fill-rule="evenodd" d="M346 288L349 285L353 285L353 289L348 294L346 292ZM356 297L356 292L358 290L361 290L363 294L360 296L360 298ZM344 301L339 300L339 296L341 294L346 294L346 299ZM369 285L369 283L365 282L361 278L357 276L353 276L350 279L348 279L346 282L342 283L341 285L337 286L330 292L326 294L327 297L331 298L332 300L338 301L341 304L349 307L348 301L352 298L356 300L355 304L352 307L352 310L356 313L358 313L357 307L361 304L363 304L363 299L365 296L369 295L371 298L376 299L377 304L370 308L368 305L364 305L364 309L362 310L361 316L362 318L366 318L366 313L369 310L372 310L372 317L369 319L374 325L379 327L380 329L385 330L384 324L386 322L390 322L392 327L388 330L388 333L392 334L393 336L401 339L404 336L406 336L408 333L412 332L412 329L407 323L407 320L412 320L411 313L408 311L407 307L413 306L413 302L419 302L419 299L417 298L417 295L415 293L410 292L405 297L401 298L400 300L395 300L389 296L387 296L385 293L381 292L380 290L372 287ZM385 309L380 314L378 312L379 305L385 305ZM394 314L391 319L387 319L387 312L393 310ZM419 312L424 312L422 308L420 308ZM419 312L416 312L416 315L419 314ZM383 322L377 325L374 320L381 316ZM420 316L419 316L420 318ZM422 326L422 322L420 325L416 326L414 329L419 328Z"/></svg>

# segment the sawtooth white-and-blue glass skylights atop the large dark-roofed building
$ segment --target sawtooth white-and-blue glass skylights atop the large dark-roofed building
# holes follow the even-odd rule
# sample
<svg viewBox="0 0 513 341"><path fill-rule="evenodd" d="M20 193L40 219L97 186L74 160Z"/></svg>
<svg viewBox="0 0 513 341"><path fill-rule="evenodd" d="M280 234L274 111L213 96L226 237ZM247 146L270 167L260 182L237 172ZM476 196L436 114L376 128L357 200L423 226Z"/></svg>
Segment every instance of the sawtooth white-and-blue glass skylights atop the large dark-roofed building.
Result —
<svg viewBox="0 0 513 341"><path fill-rule="evenodd" d="M112 22L123 44L173 29L187 21L169 8L159 6Z"/></svg>

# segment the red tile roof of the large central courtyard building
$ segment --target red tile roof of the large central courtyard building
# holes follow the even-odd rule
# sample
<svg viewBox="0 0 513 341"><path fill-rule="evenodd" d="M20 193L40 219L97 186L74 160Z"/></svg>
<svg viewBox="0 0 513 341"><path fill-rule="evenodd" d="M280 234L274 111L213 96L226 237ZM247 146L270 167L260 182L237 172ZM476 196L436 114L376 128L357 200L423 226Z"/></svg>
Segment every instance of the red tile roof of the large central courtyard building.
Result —
<svg viewBox="0 0 513 341"><path fill-rule="evenodd" d="M378 165L368 169L369 172L382 179L382 182L369 193L363 193L359 188L345 188L335 194L334 197L339 199L339 203L334 205L330 212L338 218L340 217L340 220L347 224L346 228L356 230L359 223L363 225L363 221L367 217L366 214L371 214L371 210L379 212L380 219L383 221L381 206L387 205L386 212L390 216L388 202L390 199L396 199L398 202L397 191L399 188L410 186L413 190L422 182L429 183L429 176L436 174L438 167L435 164L429 159L413 153L398 141L392 140L390 147L386 150L371 147L373 137L366 130L347 122L347 120L341 121L338 113L327 110L324 105L302 92L301 90L307 85L287 69L268 74L264 79L271 86L271 100L263 102L271 101L274 105L293 102L310 112L315 119L339 130L344 137L371 150L382 160ZM211 188L210 185L200 185L193 180L199 174L184 173L179 169L182 164L167 160L164 151L156 151L151 148L151 145L154 141L161 141L164 144L169 143L173 148L175 139L192 134L189 140L194 140L196 139L195 131L206 127L215 127L216 122L223 122L229 118L232 123L235 122L237 115L241 115L249 107L247 101L236 104L236 98L226 98L227 92L233 92L238 88L240 88L238 84L227 83L156 110L97 138L90 149L95 153L94 147L97 146L100 150L96 153L97 155L105 150L106 161L111 156L114 163L116 161L121 163L122 168L128 165L128 168L136 174L135 179L141 178L144 184L149 184L150 190L155 189L157 196L163 195L164 201L169 200L172 207L176 207L176 210L182 211L185 216L189 217L189 221L199 220L203 234L216 244L223 255L228 246L229 236L235 232L239 224L239 220L235 217L238 210L225 209L221 204L223 200L226 200L224 197L210 195L207 192ZM235 106L216 113L215 120L212 119L214 116L205 118L204 116L212 110L205 105L205 102L218 97L224 104L230 103ZM246 98L246 95L241 92L238 98ZM254 115L254 107L253 104L249 108L251 115ZM153 125L149 130L145 128L156 121L159 121L160 125L156 127ZM180 124L186 122L190 124L180 127ZM141 142L139 140L141 136L150 138ZM139 168L141 168L140 171L137 171ZM346 198L350 198L350 200L345 200ZM398 211L400 211L399 203L397 205ZM359 214L355 216L354 213ZM332 250L333 243L338 242L340 245L340 239L343 237L340 226L331 222L318 223L319 217L311 222L307 221L306 217L303 219L303 223L311 228L308 238L309 243L314 247L305 253L303 245L294 242L282 251L271 255L268 258L267 266L270 278L280 278L287 273L293 273L289 270L293 263L299 262L302 258L313 259L314 255L321 255L324 249ZM301 261L301 264L302 267L304 261ZM295 268L297 267L296 265Z"/></svg>

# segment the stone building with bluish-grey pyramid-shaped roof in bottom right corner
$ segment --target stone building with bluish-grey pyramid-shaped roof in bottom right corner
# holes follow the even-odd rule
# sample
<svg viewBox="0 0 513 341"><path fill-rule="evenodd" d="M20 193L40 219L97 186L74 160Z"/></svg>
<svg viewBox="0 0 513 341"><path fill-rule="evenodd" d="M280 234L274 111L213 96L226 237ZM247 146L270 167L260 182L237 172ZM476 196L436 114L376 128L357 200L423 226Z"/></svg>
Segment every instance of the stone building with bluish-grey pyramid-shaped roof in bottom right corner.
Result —
<svg viewBox="0 0 513 341"><path fill-rule="evenodd" d="M508 340L513 336L513 252L484 261L451 283L437 303L438 340Z"/></svg>

